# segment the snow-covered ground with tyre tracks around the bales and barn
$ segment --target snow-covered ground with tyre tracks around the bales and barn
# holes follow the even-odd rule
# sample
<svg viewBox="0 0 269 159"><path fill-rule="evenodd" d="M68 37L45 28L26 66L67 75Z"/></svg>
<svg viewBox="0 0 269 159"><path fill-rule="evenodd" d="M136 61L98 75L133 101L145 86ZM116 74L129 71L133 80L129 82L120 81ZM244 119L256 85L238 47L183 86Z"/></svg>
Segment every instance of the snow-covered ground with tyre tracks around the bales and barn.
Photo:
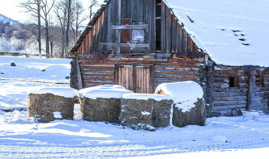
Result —
<svg viewBox="0 0 269 159"><path fill-rule="evenodd" d="M9 66L14 60L15 67ZM26 92L34 86L66 87L70 60L0 56L0 158L267 158L269 116L213 117L204 127L137 131L75 119L35 123ZM42 72L41 70L46 71ZM39 81L39 82L33 82ZM42 83L50 82L50 83ZM219 135L219 136L218 136ZM227 142L226 142L227 139Z"/></svg>

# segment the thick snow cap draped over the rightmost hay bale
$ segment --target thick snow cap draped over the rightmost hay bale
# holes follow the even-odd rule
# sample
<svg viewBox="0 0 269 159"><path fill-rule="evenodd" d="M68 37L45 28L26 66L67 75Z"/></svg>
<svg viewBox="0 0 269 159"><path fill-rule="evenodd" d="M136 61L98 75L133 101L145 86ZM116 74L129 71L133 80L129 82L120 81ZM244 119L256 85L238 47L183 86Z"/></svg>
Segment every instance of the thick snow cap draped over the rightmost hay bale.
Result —
<svg viewBox="0 0 269 159"><path fill-rule="evenodd" d="M159 91L174 97L175 106L181 109L181 112L187 112L195 107L194 103L204 95L202 87L193 81L162 83L156 88L155 94Z"/></svg>

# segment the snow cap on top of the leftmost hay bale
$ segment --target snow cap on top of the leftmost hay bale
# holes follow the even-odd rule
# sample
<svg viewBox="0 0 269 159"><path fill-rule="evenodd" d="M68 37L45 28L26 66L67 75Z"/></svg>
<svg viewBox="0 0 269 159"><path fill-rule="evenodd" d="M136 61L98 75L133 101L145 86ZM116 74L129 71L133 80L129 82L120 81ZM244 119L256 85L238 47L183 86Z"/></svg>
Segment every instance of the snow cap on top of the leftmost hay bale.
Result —
<svg viewBox="0 0 269 159"><path fill-rule="evenodd" d="M74 98L78 95L78 91L74 88L64 87L32 87L27 91L27 94L46 94L51 93L55 96L63 96L65 98Z"/></svg>

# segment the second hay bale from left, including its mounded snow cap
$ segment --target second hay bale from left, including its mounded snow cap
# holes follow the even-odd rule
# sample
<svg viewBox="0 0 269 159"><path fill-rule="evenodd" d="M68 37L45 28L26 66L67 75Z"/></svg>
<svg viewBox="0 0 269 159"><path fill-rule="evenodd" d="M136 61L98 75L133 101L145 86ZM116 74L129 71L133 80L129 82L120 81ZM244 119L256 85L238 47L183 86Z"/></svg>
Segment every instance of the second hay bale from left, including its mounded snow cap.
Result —
<svg viewBox="0 0 269 159"><path fill-rule="evenodd" d="M79 91L82 119L117 123L120 99L125 93L134 93L120 85L101 85Z"/></svg>

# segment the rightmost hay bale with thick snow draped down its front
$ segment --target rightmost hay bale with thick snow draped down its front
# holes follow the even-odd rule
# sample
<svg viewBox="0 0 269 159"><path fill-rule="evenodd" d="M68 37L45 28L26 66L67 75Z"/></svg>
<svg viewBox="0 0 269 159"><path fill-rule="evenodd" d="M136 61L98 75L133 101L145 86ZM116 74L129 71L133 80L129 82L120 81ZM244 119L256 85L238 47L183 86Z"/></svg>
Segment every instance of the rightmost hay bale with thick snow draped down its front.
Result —
<svg viewBox="0 0 269 159"><path fill-rule="evenodd" d="M174 126L204 125L206 119L204 93L198 83L193 81L163 83L156 88L155 93L175 98L172 121Z"/></svg>

